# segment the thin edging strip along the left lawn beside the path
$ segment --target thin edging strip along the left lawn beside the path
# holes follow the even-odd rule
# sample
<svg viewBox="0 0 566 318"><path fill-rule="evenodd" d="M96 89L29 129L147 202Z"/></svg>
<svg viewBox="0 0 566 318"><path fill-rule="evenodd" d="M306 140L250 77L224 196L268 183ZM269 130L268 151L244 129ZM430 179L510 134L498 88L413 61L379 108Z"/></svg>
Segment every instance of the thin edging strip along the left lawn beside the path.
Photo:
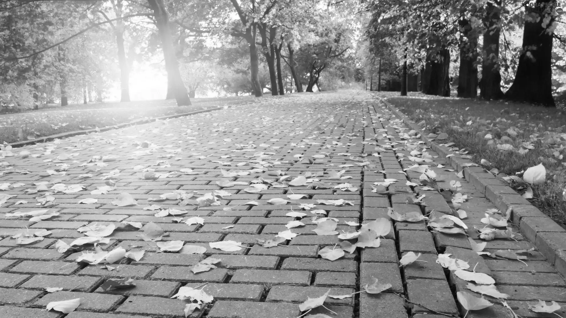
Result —
<svg viewBox="0 0 566 318"><path fill-rule="evenodd" d="M228 106L228 108L230 108L230 106ZM55 139L63 139L63 138L78 136L78 135L87 135L87 134L90 134L91 132L108 131L108 130L119 129L119 128L128 127L128 126L134 126L134 125L137 125L137 124L145 124L145 123L149 123L149 122L161 121L161 120L165 120L165 119L184 117L184 116L195 115L195 114L200 114L200 113L209 113L211 111L221 110L221 109L223 109L223 108L222 107L215 107L215 108L208 108L208 109L190 111L189 113L165 115L165 116L153 117L153 118L148 118L148 119L137 119L136 121L133 121L133 122L121 123L121 124L116 124L114 126L106 126L106 127L102 127L102 128L98 128L98 129L87 129L87 130L76 130L76 131L62 132L61 134L45 136L45 137L41 137L41 138L38 138L38 139L18 141L16 143L6 144L5 146L12 146L12 148L19 148L19 147L24 147L24 146L27 146L27 145L46 143L48 141L53 141Z"/></svg>

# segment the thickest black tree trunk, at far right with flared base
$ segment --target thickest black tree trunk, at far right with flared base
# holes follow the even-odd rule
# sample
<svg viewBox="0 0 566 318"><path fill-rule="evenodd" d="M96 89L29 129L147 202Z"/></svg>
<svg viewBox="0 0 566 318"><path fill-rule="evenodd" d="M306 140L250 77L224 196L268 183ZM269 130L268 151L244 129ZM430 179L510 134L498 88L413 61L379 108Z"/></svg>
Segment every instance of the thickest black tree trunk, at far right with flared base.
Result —
<svg viewBox="0 0 566 318"><path fill-rule="evenodd" d="M537 0L535 5L547 6L553 0ZM552 98L552 32L547 32L554 22L552 12L527 9L523 32L523 51L519 57L513 85L505 93L509 100L542 104L555 107ZM530 12L529 12L530 11ZM542 11L542 10L540 10ZM546 22L545 22L546 21Z"/></svg>

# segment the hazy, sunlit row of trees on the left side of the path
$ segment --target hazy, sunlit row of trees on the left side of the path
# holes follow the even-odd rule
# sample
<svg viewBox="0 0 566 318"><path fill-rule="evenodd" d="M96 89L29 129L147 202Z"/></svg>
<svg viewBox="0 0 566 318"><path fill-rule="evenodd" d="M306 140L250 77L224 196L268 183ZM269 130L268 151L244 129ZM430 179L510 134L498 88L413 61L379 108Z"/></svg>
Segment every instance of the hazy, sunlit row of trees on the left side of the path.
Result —
<svg viewBox="0 0 566 318"><path fill-rule="evenodd" d="M212 87L312 92L323 71L361 80L352 63L361 9L357 1L2 1L0 102L66 105L70 94L86 102L93 92L102 99L114 80L130 101L132 68L155 61L164 62L166 98L178 105ZM344 68L346 75L333 71Z"/></svg>

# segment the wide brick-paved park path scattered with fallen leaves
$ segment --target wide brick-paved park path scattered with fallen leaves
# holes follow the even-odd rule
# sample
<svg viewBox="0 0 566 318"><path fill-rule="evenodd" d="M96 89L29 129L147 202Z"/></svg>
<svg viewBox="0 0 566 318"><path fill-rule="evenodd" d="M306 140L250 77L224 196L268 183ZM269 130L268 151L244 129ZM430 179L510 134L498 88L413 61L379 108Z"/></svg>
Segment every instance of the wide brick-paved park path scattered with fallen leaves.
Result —
<svg viewBox="0 0 566 318"><path fill-rule="evenodd" d="M391 220L388 208L431 218L432 210L453 213L451 197L410 183L419 183L422 175L415 161L431 161L421 165L435 172L441 188L468 195L460 209L468 214L463 221L474 242L482 242L474 226L484 227L481 218L486 210L495 208L472 184L447 171L448 164L437 153L422 149L422 145L415 151L416 134L375 95L344 91L285 96L12 149L14 156L2 159L0 185L5 188L0 199L6 199L0 208L0 317L184 317L185 301L171 296L181 286L207 283L203 290L214 300L191 317L295 318L305 313L299 304L307 296L319 297L328 289L330 295L351 294L372 285L376 278L391 287L380 294L327 298L328 309L317 307L307 316L462 317L465 310L457 305L456 292L480 295L466 289L469 282L456 277L454 270L436 262L439 253L451 253L453 259L467 261L468 270L494 278L498 290L509 295L507 303L517 315L554 316L537 314L527 307L538 299L566 302L566 282L541 253L528 251L525 263L482 257L471 251L466 235L430 231L424 221ZM413 170L408 169L411 166ZM305 179L294 182L299 185L287 184L301 175ZM452 187L451 181L459 184L452 182ZM387 191L383 182L389 183ZM61 183L64 185L53 186ZM251 187L253 184L258 185ZM108 192L91 194L97 188ZM42 191L46 189L50 194ZM33 193L36 190L39 192ZM138 205L118 207L128 199L114 201L122 193L130 194ZM304 196L288 197L293 194ZM425 195L423 205L411 199L408 203L408 197L415 198L415 194ZM83 199L96 201L79 204ZM157 206L146 209L151 205ZM171 216L179 213L174 209L184 213ZM4 218L6 213L37 210L47 212L38 215L35 222L25 215ZM336 218L337 231L359 228L346 222L367 224L381 222L381 218L391 222L392 230L384 234L379 247L358 247L330 261L320 258L319 251L338 248L342 240L336 234L312 231L317 227L311 220L315 216L312 210L327 213L316 214L319 218ZM59 214L41 220L53 212ZM306 213L302 218L305 225L290 229L300 235L282 240L276 247L258 244L258 239L271 240L288 230L288 222L301 220L288 216L297 216L293 212ZM202 218L203 224L183 223L192 217ZM328 223L332 225L332 221ZM137 261L118 257L112 264L78 263L81 249L95 251L93 244L66 247L84 237L78 231L84 225L95 232L91 237L99 237L103 242L99 247L105 251L123 256L119 255L121 248L133 250L133 258L135 251L145 253ZM115 227L112 234L101 234L109 225ZM143 229L138 230L136 226L141 225ZM155 225L153 232L145 231ZM164 234L157 240L160 229ZM42 240L38 238L41 235ZM103 236L108 240L100 239ZM25 242L34 238L36 242ZM223 251L209 245L225 241L242 247ZM178 250L177 244L186 246L181 252L161 252ZM189 253L198 248L188 246L203 248L200 253ZM533 244L518 236L516 240L491 240L483 251L530 248ZM400 267L400 257L406 252L422 253L419 260L427 263ZM92 263L93 258L88 259ZM203 259L220 262L211 262L217 268L192 273L192 265ZM103 290L109 279L120 278L133 278L136 286ZM62 290L48 293L46 289L52 287ZM470 311L468 317L512 317L498 299L485 297L495 305ZM50 302L76 298L80 298L79 307L67 315L42 311ZM564 310L557 313L566 314Z"/></svg>

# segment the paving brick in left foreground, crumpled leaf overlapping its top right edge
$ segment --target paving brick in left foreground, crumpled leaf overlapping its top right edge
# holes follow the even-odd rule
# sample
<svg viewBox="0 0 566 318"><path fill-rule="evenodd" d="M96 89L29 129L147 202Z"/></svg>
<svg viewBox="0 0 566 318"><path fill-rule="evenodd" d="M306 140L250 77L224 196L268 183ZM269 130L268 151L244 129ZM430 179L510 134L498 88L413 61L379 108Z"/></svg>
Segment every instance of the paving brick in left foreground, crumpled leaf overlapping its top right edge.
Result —
<svg viewBox="0 0 566 318"><path fill-rule="evenodd" d="M136 265L139 266L139 265ZM162 266L152 274L152 280L166 280L179 282L215 282L226 280L228 269L214 268L208 272L194 274L188 267Z"/></svg>

